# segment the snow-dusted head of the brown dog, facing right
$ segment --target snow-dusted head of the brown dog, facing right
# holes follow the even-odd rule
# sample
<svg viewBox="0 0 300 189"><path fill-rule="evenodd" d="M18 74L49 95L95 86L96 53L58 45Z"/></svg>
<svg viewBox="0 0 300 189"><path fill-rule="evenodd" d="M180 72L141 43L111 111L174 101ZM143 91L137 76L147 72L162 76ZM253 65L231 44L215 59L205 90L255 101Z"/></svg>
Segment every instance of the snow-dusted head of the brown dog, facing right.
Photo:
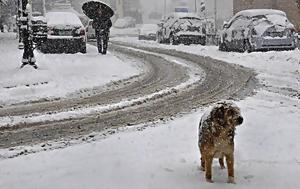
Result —
<svg viewBox="0 0 300 189"><path fill-rule="evenodd" d="M212 111L212 117L222 127L236 127L244 121L241 111L232 102L219 102Z"/></svg>

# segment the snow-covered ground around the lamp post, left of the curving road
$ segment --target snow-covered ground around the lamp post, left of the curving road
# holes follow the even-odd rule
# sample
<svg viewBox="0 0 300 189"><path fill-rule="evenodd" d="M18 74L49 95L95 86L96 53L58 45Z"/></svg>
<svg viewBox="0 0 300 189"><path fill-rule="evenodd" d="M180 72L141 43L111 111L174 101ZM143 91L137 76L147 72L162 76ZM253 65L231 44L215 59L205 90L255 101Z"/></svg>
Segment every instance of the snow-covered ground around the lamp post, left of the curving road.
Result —
<svg viewBox="0 0 300 189"><path fill-rule="evenodd" d="M0 34L0 105L43 98L66 97L78 90L138 75L137 63L108 54L98 55L93 46L87 54L42 54L35 51L38 70L20 69L22 52L15 34Z"/></svg>

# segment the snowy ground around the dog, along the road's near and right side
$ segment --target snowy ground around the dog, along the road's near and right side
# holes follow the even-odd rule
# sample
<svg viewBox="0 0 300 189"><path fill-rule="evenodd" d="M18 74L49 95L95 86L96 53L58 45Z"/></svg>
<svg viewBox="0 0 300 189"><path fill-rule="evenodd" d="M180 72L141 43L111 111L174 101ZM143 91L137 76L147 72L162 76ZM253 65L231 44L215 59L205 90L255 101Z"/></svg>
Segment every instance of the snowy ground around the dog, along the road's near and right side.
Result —
<svg viewBox="0 0 300 189"><path fill-rule="evenodd" d="M258 73L262 87L236 102L245 118L236 136L237 184L226 184L226 170L216 162L214 184L206 183L198 169L200 109L167 123L128 127L104 139L99 135L90 143L2 159L0 188L300 188L299 50L241 54L118 40L211 56Z"/></svg>

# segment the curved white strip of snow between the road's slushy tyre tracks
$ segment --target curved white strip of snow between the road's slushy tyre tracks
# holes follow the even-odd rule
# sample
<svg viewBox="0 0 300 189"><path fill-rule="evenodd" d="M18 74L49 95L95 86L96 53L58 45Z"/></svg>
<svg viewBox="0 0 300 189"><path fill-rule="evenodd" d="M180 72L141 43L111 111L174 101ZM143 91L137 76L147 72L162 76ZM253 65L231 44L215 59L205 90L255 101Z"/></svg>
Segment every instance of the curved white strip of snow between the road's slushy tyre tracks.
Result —
<svg viewBox="0 0 300 189"><path fill-rule="evenodd" d="M134 49L132 49L134 50ZM138 50L140 52L143 52L142 50ZM150 53L154 54L156 56L159 56L157 53ZM163 57L162 57L163 58ZM173 62L175 64L181 65L185 67L189 74L189 79L177 86L174 87L167 87L163 90L157 91L155 93L138 97L135 99L126 99L124 98L121 102L117 102L114 104L109 105L97 105L97 106L89 106L89 107L81 107L76 110L69 110L69 111L63 111L63 112L52 112L51 114L39 114L34 113L33 115L23 115L23 116L9 116L9 117L0 117L0 127L6 126L6 125L16 125L20 123L36 123L36 122L45 122L45 121L58 121L63 119L69 119L69 118L75 118L75 117L84 117L90 114L95 113L103 113L105 111L112 111L112 110L118 110L120 108L130 107L134 104L137 104L139 102L145 102L149 101L151 99L156 98L157 96L165 96L172 94L174 91L182 91L186 87L193 85L194 83L201 83L205 79L205 73L202 69L199 69L198 67L191 66L188 64L185 64L184 62L180 62L178 60L173 60L168 57L164 57L167 61ZM202 73L202 74L199 74Z"/></svg>

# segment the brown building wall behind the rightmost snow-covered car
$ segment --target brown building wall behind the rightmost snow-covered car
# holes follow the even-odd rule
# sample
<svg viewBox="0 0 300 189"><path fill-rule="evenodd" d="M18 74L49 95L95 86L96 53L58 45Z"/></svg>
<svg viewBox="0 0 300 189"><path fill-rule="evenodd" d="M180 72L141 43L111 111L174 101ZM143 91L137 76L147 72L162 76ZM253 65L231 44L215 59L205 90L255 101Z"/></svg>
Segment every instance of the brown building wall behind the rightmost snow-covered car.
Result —
<svg viewBox="0 0 300 189"><path fill-rule="evenodd" d="M289 20L300 31L300 9L297 6L297 0L233 0L234 13L245 9L266 8L279 9L287 13Z"/></svg>

